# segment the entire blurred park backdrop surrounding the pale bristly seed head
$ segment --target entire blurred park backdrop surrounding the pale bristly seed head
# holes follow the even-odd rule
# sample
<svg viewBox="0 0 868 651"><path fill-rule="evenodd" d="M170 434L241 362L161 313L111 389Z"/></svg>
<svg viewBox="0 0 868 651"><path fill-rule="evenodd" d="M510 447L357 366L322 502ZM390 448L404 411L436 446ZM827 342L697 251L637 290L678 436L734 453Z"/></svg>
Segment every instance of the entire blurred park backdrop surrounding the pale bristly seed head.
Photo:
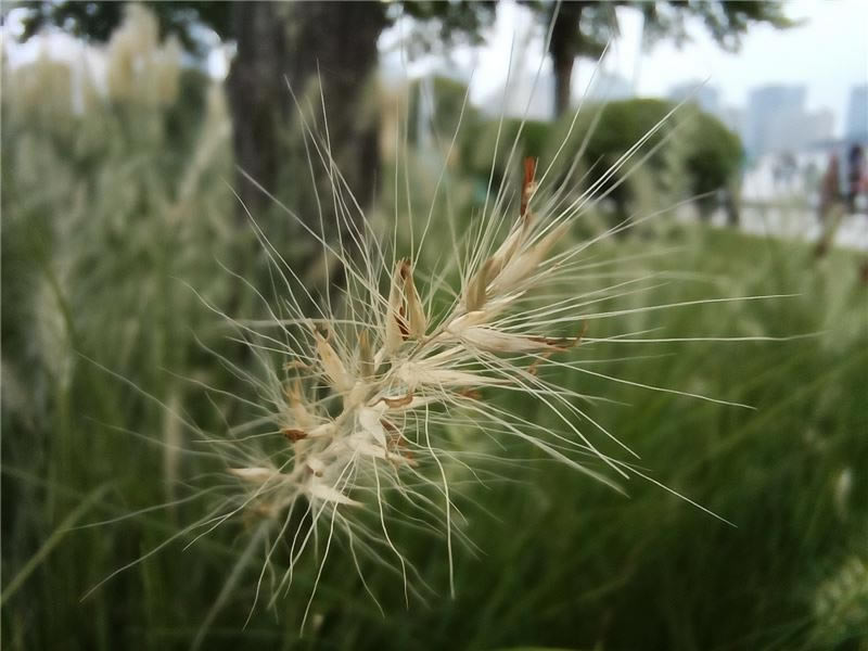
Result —
<svg viewBox="0 0 868 651"><path fill-rule="evenodd" d="M868 649L868 4L3 2L1 34L7 648ZM425 599L362 560L383 615L339 550L304 633L314 564L243 628L259 565L239 562L242 524L82 600L202 515L187 481L215 469L173 451L171 413L225 432L238 407L201 383L248 394L202 299L254 319L251 288L279 301L241 202L311 293L340 277L281 207L333 224L304 137L323 110L363 218L397 220L400 248L430 209L472 226L493 168L521 187L501 116L523 155L565 142L577 196L679 103L571 234L633 218L589 253L665 279L605 307L794 296L639 309L593 336L760 341L601 342L583 353L601 376L554 379L610 399L595 418L642 468L735 528L513 446L462 485L477 549L457 551L454 599L439 546L399 532Z"/></svg>

